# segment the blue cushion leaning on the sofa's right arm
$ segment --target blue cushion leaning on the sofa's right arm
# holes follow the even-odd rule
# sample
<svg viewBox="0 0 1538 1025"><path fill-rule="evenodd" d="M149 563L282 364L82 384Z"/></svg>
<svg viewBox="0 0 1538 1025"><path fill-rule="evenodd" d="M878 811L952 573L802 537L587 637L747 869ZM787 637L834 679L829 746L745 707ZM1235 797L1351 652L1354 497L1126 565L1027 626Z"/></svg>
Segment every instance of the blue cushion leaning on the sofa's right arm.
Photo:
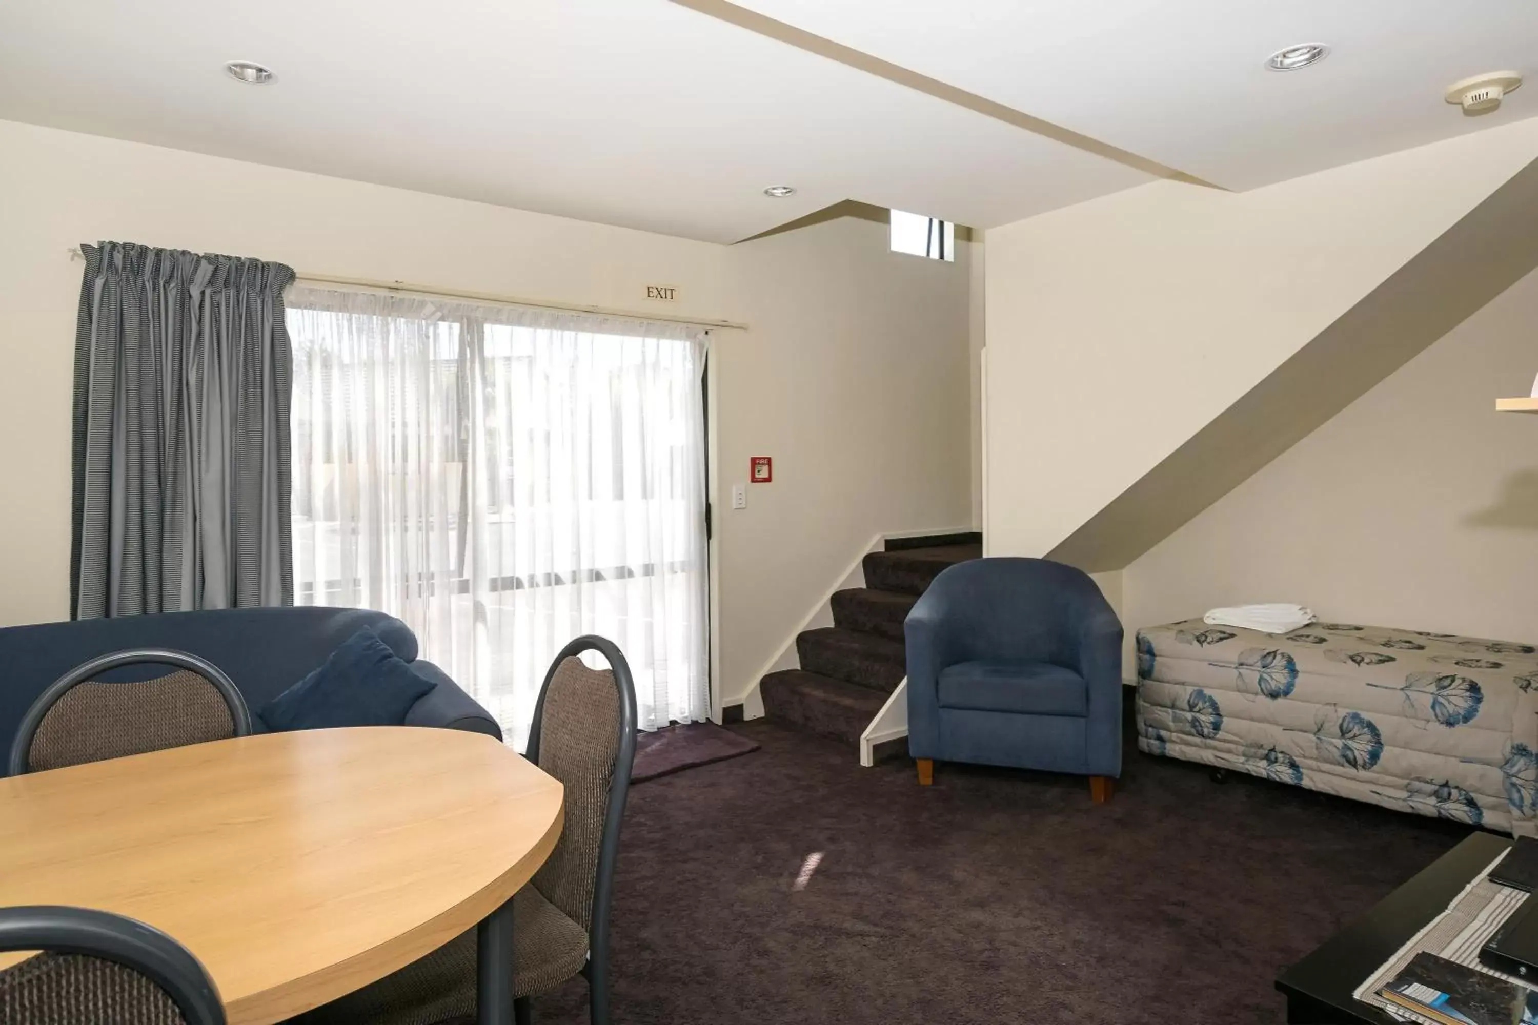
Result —
<svg viewBox="0 0 1538 1025"><path fill-rule="evenodd" d="M417 699L434 688L374 630L363 629L325 665L261 707L269 730L325 730L341 725L403 725Z"/></svg>

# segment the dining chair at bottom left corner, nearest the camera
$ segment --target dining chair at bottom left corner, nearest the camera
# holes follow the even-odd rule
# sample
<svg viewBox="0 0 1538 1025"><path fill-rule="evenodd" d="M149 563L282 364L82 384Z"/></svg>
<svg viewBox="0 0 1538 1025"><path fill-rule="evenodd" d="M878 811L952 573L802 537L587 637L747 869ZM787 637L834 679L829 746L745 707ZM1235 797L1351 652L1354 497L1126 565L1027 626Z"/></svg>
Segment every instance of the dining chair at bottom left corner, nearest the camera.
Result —
<svg viewBox="0 0 1538 1025"><path fill-rule="evenodd" d="M143 922L89 908L0 908L6 1025L225 1025L218 988L186 947Z"/></svg>

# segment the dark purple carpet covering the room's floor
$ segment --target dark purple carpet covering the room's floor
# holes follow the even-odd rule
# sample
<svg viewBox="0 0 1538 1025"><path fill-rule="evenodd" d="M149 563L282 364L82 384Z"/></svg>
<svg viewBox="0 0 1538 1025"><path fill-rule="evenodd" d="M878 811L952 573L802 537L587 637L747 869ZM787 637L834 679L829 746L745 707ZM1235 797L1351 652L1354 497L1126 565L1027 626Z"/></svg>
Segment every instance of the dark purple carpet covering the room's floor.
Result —
<svg viewBox="0 0 1538 1025"><path fill-rule="evenodd" d="M1135 748L1092 805L1074 776L920 788L907 759L731 731L763 750L631 791L615 1025L1281 1025L1277 970L1469 833ZM586 1023L586 996L534 1020Z"/></svg>

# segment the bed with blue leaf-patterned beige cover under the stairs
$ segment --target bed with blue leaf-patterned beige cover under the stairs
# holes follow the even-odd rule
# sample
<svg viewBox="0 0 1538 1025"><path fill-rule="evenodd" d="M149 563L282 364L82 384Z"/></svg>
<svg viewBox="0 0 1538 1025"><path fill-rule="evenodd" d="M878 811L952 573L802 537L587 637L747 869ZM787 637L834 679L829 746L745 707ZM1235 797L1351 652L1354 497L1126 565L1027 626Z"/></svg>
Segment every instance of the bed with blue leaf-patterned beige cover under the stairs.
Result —
<svg viewBox="0 0 1538 1025"><path fill-rule="evenodd" d="M1138 632L1138 747L1538 836L1538 647L1313 622Z"/></svg>

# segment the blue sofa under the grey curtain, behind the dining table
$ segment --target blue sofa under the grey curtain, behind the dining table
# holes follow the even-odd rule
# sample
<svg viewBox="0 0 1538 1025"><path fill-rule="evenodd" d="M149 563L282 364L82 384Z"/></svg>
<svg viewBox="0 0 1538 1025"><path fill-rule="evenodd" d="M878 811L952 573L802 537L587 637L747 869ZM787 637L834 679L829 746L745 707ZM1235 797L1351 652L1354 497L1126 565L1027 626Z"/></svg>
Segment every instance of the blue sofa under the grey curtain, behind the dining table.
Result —
<svg viewBox="0 0 1538 1025"><path fill-rule="evenodd" d="M115 619L45 622L0 629L0 750L15 736L32 701L58 676L86 659L135 647L168 647L198 655L240 688L255 713L298 682L348 638L371 627L412 668L437 684L412 705L406 725L471 730L501 739L497 721L432 662L417 659L417 636L381 612L366 609L226 609L169 612ZM105 673L108 681L151 679L165 672L134 665Z"/></svg>

